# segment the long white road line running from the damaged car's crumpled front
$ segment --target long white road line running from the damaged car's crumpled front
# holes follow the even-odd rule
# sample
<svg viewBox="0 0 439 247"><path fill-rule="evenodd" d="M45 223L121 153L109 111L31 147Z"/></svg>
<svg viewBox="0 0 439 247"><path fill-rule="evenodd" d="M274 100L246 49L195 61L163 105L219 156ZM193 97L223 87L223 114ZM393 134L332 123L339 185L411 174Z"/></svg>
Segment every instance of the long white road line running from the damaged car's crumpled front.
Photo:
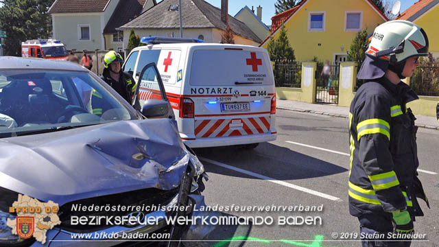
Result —
<svg viewBox="0 0 439 247"><path fill-rule="evenodd" d="M326 198L326 199L333 200L333 201L339 201L339 202L342 201L340 198L336 198L335 196L330 196L328 194L321 193L321 192L318 192L318 191L314 191L312 189L307 189L305 187L301 187L301 186L298 186L298 185L293 185L292 183L286 183L286 182L283 182L281 180L277 180L277 179L274 179L274 178L270 178L268 176L263 176L261 174L257 174L257 173L254 173L254 172L247 171L245 169L240 169L240 168L237 168L237 167L233 167L231 165L226 165L226 164L220 163L218 161L212 161L209 158L203 158L203 157L199 157L199 158L200 158L200 160L209 162L209 163L211 163L213 165L217 165L217 166L220 166L220 167L223 167L223 168L226 168L226 169L231 169L231 170L233 170L235 172L239 172L241 174L247 174L247 175L250 175L250 176L254 176L255 178L261 178L263 180L268 180L268 181L270 181L272 183L275 183L275 184L278 184L278 185L283 185L285 187L289 187L291 189L296 189L298 191L310 193L310 194L312 194L314 196L320 196L321 198Z"/></svg>

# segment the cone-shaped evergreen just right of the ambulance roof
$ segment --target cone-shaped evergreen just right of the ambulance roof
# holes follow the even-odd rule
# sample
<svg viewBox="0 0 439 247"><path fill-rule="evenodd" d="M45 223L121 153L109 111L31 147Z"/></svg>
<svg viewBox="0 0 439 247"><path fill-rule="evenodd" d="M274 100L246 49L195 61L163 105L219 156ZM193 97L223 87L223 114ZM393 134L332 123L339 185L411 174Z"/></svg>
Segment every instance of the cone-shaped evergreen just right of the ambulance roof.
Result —
<svg viewBox="0 0 439 247"><path fill-rule="evenodd" d="M296 60L294 49L289 45L287 28L285 25L282 25L281 32L279 32L279 37L277 39L270 38L267 50L270 55L270 60L272 61L284 63Z"/></svg>

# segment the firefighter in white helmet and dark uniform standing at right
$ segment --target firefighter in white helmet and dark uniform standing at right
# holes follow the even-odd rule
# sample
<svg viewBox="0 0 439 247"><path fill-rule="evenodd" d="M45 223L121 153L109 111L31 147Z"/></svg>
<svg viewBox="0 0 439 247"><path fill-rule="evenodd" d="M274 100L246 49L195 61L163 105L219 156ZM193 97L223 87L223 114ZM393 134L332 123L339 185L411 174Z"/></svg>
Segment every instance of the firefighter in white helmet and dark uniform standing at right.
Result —
<svg viewBox="0 0 439 247"><path fill-rule="evenodd" d="M349 113L348 198L362 246L410 246L415 217L423 216L416 200L427 202L416 172L416 118L405 105L418 96L401 79L413 75L428 45L424 30L410 21L383 23L357 75L366 83Z"/></svg>

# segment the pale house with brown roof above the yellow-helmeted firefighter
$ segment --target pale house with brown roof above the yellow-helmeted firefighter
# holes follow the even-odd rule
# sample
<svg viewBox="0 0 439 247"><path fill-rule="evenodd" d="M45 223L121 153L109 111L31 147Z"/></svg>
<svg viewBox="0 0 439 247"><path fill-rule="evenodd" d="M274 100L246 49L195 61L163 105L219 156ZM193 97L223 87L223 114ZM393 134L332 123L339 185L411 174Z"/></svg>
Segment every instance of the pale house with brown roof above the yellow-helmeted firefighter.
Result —
<svg viewBox="0 0 439 247"><path fill-rule="evenodd" d="M123 33L116 28L156 4L156 0L56 0L49 9L53 38L67 49L123 51Z"/></svg>

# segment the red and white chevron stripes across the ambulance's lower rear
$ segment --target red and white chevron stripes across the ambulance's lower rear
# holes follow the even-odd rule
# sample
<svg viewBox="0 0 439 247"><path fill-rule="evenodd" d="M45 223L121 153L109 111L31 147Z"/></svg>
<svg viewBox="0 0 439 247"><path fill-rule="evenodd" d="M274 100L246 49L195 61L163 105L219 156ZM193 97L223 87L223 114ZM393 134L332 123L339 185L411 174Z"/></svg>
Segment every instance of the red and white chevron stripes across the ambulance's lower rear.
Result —
<svg viewBox="0 0 439 247"><path fill-rule="evenodd" d="M270 116L195 120L195 137L237 137L270 130Z"/></svg>

